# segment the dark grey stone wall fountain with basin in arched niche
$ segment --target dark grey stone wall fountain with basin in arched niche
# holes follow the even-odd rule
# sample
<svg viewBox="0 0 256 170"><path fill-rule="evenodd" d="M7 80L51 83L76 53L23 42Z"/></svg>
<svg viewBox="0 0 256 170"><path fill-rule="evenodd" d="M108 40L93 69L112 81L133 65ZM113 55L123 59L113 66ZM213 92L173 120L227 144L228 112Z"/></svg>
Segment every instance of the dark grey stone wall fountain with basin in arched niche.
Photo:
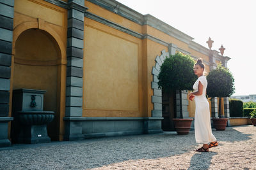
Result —
<svg viewBox="0 0 256 170"><path fill-rule="evenodd" d="M47 125L54 119L54 111L43 111L45 90L13 90L14 143L48 143Z"/></svg>

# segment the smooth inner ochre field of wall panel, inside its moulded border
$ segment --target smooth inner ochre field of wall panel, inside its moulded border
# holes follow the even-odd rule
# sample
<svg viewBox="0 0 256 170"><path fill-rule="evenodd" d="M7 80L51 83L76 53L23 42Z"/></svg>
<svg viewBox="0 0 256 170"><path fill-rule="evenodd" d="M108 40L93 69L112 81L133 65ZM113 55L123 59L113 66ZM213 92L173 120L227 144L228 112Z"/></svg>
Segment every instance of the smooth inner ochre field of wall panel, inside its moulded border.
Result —
<svg viewBox="0 0 256 170"><path fill-rule="evenodd" d="M138 110L138 44L85 29L84 108Z"/></svg>

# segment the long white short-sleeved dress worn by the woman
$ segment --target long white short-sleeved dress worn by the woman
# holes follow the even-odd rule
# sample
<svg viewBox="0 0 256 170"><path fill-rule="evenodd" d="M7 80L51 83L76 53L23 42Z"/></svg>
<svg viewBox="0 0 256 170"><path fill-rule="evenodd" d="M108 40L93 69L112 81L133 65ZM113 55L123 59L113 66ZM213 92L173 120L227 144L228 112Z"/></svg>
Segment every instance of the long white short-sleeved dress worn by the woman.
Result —
<svg viewBox="0 0 256 170"><path fill-rule="evenodd" d="M205 96L207 88L207 80L205 76L200 76L194 83L193 89L198 91L199 81L203 85L203 93L200 96L195 96L196 111L195 111L195 138L196 143L210 143L216 141L212 134L211 117L209 103Z"/></svg>

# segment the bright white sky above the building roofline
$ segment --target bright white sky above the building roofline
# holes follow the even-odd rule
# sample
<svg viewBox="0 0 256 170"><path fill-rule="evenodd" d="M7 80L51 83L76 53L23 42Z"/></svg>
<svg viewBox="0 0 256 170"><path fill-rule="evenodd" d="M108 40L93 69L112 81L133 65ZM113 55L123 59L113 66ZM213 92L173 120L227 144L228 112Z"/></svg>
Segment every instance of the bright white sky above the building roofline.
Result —
<svg viewBox="0 0 256 170"><path fill-rule="evenodd" d="M255 0L118 0L133 10L149 13L193 37L212 50L223 44L228 68L235 78L233 95L256 94L256 1ZM219 50L218 50L219 51Z"/></svg>

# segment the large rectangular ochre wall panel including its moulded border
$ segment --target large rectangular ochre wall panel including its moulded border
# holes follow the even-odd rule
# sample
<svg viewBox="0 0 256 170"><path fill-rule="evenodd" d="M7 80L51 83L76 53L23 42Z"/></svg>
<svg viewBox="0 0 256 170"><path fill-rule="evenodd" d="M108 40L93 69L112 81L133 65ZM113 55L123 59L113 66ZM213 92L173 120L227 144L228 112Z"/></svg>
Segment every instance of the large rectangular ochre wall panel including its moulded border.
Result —
<svg viewBox="0 0 256 170"><path fill-rule="evenodd" d="M85 23L83 116L142 117L141 39Z"/></svg>

